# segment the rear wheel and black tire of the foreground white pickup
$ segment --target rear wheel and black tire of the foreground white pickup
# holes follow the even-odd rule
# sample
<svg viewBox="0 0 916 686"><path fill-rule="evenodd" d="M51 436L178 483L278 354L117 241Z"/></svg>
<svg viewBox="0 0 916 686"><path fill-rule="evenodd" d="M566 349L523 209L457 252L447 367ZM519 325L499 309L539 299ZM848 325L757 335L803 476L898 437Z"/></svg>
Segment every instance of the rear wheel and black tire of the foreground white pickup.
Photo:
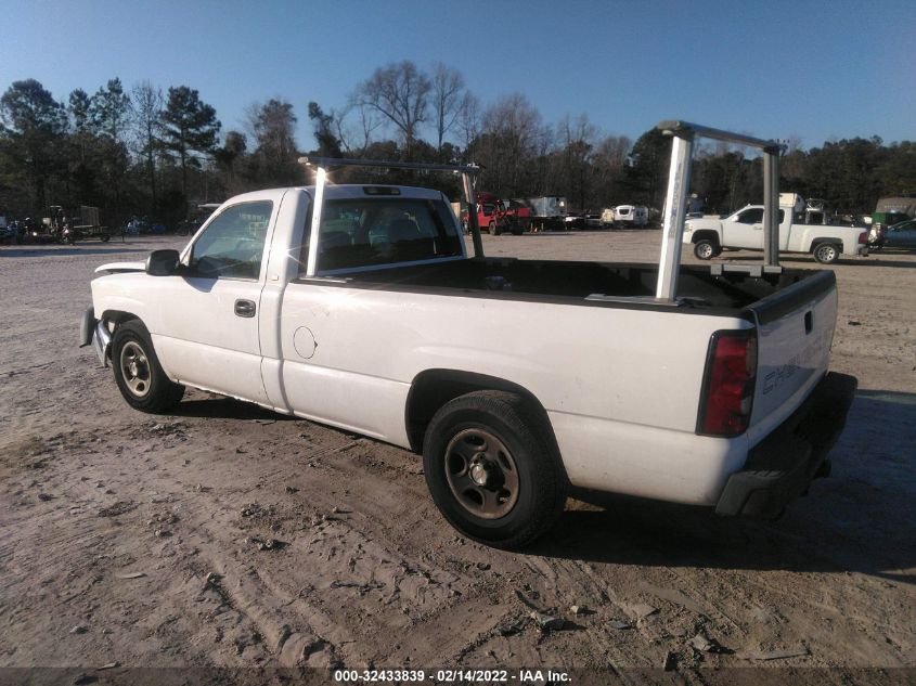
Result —
<svg viewBox="0 0 916 686"><path fill-rule="evenodd" d="M567 480L545 422L519 396L503 391L476 391L442 405L426 429L423 466L449 523L507 549L527 545L554 523ZM480 474L490 482L477 481Z"/></svg>

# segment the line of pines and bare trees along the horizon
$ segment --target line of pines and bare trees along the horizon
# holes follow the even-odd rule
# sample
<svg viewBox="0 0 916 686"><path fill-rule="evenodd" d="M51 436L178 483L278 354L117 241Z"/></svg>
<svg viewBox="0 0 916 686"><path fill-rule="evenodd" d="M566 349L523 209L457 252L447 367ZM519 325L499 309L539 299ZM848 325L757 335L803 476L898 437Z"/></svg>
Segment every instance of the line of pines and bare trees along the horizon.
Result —
<svg viewBox="0 0 916 686"><path fill-rule="evenodd" d="M608 134L582 114L545 122L521 93L486 106L462 74L410 61L375 69L338 107L308 102L311 140L296 140L293 103L251 103L242 126L223 133L216 109L188 86L163 91L149 80L126 89L113 78L93 94L59 102L37 80L0 96L0 210L40 216L49 205L99 206L106 223L131 215L176 223L194 203L307 183L301 154L469 163L485 167L478 190L502 197L566 196L598 211L622 203L660 209L670 140L649 129L636 141ZM827 199L846 212L874 209L880 196L916 193L916 144L854 138L803 150L787 141L780 189ZM378 178L344 170L335 180ZM391 179L391 177L386 177ZM413 174L395 181L413 182ZM437 182L454 197L456 180ZM701 146L692 192L707 211L763 195L761 160L740 147Z"/></svg>

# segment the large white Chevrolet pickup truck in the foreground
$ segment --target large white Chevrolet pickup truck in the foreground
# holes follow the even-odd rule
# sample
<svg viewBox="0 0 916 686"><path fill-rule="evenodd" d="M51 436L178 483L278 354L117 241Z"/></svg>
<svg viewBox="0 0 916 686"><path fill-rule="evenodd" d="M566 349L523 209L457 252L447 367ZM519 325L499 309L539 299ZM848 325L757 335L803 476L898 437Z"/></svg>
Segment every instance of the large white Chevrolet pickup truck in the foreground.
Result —
<svg viewBox="0 0 916 686"><path fill-rule="evenodd" d="M240 195L181 253L100 267L81 344L137 410L192 386L423 453L501 547L570 487L775 516L826 474L855 388L827 372L833 272L685 267L658 298L658 266L487 259L473 229L470 257L427 189Z"/></svg>

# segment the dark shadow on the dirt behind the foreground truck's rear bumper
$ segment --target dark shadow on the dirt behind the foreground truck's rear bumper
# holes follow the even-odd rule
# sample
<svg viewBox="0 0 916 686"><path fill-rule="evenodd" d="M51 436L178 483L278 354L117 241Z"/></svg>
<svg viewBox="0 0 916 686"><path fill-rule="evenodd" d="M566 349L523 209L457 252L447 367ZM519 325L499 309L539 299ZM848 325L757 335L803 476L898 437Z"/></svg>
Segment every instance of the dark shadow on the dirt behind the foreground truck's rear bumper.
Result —
<svg viewBox="0 0 916 686"><path fill-rule="evenodd" d="M649 567L861 572L916 584L916 393L860 391L831 453L833 475L782 519L577 493L546 557ZM597 509L596 509L597 508Z"/></svg>

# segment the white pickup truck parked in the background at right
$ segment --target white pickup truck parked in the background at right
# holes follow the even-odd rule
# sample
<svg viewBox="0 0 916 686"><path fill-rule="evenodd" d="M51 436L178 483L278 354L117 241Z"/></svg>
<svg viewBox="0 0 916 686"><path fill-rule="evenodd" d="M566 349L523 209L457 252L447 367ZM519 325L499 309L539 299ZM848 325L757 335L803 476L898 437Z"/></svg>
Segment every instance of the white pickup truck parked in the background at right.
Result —
<svg viewBox="0 0 916 686"><path fill-rule="evenodd" d="M779 251L807 253L818 262L836 262L840 255L868 255L867 229L803 223L804 200L795 193L779 194ZM763 205L747 205L724 219L691 219L684 243L694 255L709 260L723 248L763 249Z"/></svg>

